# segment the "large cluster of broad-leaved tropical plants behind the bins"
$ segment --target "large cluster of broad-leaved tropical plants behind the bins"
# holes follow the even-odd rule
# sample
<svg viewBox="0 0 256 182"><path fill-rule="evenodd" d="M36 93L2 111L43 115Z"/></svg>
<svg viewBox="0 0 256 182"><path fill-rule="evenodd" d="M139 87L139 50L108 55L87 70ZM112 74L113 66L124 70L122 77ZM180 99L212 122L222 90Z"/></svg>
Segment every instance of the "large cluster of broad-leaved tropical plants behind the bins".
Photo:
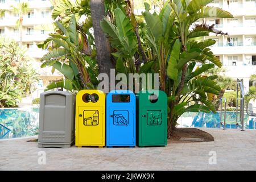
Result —
<svg viewBox="0 0 256 182"><path fill-rule="evenodd" d="M94 35L92 31L98 27L91 18L95 10L90 9L94 1L61 1L52 14L53 19L58 19L56 32L39 47L49 49L42 59L43 66L58 69L65 80L49 85L48 89L93 88L98 68L112 63L117 73L159 73L160 89L168 95L170 136L181 114L216 110L209 95L218 95L221 88L217 76L208 76L205 71L222 64L209 48L215 41L200 38L210 32L221 35L223 32L195 22L201 18L233 16L220 8L208 7L212 1L158 1L159 13L144 3L142 15L134 14L133 1L104 1L105 18L100 26L109 38L112 54L112 61L104 65L96 64L94 59L96 49L98 58L101 47L108 47L107 43L95 44L98 31Z"/></svg>

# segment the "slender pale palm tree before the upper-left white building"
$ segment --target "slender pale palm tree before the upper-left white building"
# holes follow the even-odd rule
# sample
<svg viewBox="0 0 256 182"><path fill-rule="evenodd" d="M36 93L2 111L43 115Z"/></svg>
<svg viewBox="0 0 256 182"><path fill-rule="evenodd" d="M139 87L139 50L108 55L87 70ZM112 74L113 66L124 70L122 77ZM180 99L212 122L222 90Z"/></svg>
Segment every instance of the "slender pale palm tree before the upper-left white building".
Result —
<svg viewBox="0 0 256 182"><path fill-rule="evenodd" d="M22 46L22 25L23 25L23 15L27 14L28 12L28 3L21 2L18 5L11 6L13 7L14 13L19 15L19 19L17 20L17 26L19 28L19 46Z"/></svg>

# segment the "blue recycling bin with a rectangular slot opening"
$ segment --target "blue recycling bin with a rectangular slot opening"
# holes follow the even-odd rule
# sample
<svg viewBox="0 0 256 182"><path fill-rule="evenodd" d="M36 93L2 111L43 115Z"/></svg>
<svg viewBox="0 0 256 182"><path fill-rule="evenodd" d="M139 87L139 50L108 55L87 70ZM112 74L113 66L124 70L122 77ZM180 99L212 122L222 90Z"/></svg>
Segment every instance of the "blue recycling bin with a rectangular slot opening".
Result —
<svg viewBox="0 0 256 182"><path fill-rule="evenodd" d="M129 90L112 90L106 98L106 146L136 145L136 101Z"/></svg>

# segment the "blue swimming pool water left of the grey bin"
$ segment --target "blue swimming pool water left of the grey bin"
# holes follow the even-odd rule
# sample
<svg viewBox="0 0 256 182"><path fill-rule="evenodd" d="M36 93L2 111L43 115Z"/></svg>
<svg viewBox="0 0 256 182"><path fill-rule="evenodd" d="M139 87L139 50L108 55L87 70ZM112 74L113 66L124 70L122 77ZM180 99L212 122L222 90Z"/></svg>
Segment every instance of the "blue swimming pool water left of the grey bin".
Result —
<svg viewBox="0 0 256 182"><path fill-rule="evenodd" d="M0 109L0 139L38 134L39 109Z"/></svg>

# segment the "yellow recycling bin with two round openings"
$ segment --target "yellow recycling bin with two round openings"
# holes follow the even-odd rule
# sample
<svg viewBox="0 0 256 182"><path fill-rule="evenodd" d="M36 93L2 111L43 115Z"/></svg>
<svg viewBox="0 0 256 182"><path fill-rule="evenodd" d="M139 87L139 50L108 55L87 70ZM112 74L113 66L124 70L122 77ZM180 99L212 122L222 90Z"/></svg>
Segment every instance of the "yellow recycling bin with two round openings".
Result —
<svg viewBox="0 0 256 182"><path fill-rule="evenodd" d="M76 96L76 146L105 146L105 93L81 90Z"/></svg>

